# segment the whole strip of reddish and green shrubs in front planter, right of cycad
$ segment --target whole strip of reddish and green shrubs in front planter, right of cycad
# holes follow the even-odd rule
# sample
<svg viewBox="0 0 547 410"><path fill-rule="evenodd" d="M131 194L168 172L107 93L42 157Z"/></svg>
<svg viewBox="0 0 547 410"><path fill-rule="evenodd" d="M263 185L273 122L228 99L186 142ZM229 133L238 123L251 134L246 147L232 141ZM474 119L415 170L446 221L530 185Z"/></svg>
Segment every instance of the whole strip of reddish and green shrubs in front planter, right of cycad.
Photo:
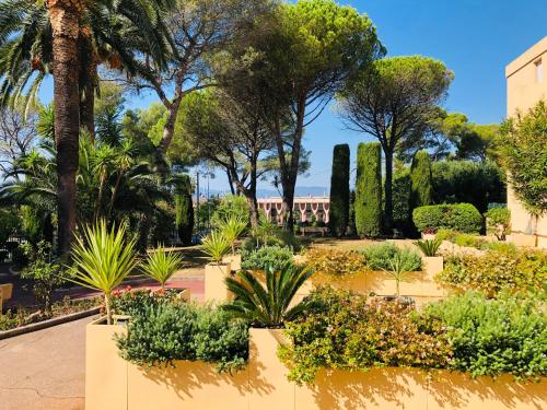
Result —
<svg viewBox="0 0 547 410"><path fill-rule="evenodd" d="M416 311L397 301L322 288L287 324L278 355L288 377L313 384L319 368L445 368L472 376L536 378L547 374L545 302L466 293Z"/></svg>

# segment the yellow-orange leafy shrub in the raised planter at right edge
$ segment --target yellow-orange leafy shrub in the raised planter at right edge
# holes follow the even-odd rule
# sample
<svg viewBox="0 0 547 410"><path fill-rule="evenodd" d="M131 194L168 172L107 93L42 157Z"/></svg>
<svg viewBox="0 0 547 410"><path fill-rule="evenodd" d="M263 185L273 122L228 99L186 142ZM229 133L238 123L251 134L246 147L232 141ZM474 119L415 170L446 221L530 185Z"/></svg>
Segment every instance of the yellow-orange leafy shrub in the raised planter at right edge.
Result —
<svg viewBox="0 0 547 410"><path fill-rule="evenodd" d="M445 260L439 280L461 290L478 290L488 296L502 291L543 290L547 281L547 253L507 247L482 256L453 256Z"/></svg>

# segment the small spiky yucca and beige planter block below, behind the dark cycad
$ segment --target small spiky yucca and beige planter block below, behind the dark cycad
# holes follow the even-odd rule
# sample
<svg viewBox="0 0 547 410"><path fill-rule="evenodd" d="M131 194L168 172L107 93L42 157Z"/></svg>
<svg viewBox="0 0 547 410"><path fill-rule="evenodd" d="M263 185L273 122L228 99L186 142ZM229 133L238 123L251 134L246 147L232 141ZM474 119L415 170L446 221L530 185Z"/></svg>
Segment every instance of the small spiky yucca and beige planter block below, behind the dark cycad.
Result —
<svg viewBox="0 0 547 410"><path fill-rule="evenodd" d="M230 242L222 232L212 231L202 239L202 249L210 260L205 270L205 300L228 301L231 295L224 279L231 276L231 265L223 262L223 258L230 251Z"/></svg>

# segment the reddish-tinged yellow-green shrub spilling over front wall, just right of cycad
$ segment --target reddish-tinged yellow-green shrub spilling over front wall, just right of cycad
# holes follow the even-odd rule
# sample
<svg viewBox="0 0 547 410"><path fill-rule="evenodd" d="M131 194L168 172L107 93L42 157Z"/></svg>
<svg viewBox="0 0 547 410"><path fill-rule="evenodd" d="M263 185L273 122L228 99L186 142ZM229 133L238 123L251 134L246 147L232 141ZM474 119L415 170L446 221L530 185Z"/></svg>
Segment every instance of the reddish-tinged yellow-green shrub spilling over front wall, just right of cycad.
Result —
<svg viewBox="0 0 547 410"><path fill-rule="evenodd" d="M447 367L451 347L439 321L427 331L412 308L323 288L305 300L309 308L287 324L291 343L279 350L289 379L312 384L317 371L370 367Z"/></svg>

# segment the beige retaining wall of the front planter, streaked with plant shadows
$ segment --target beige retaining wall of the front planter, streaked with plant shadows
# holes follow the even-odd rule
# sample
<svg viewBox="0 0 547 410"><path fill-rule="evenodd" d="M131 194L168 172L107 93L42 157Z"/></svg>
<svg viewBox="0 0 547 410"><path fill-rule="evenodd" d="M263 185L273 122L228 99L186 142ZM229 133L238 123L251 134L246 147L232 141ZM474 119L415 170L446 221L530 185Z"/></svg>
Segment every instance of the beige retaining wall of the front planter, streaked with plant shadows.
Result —
<svg viewBox="0 0 547 410"><path fill-rule="evenodd" d="M201 362L142 370L123 361L113 341L121 326L89 325L86 410L538 410L547 408L546 380L510 376L470 379L446 371L375 368L319 372L314 386L296 386L277 358L279 330L252 329L248 366L219 375Z"/></svg>

